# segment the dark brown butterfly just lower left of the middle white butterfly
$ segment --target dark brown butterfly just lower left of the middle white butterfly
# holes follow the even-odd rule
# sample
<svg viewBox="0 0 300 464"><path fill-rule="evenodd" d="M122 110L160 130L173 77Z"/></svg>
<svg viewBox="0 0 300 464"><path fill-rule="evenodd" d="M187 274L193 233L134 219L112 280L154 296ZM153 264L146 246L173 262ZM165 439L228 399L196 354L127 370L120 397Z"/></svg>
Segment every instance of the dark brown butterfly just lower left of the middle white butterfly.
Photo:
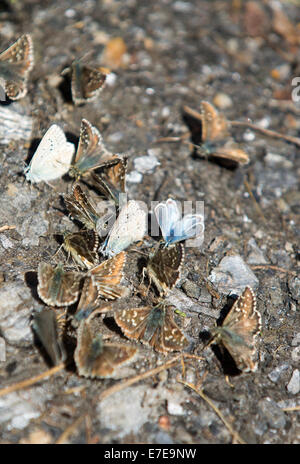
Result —
<svg viewBox="0 0 300 464"><path fill-rule="evenodd" d="M99 237L94 230L65 233L63 247L80 267L90 269L99 261Z"/></svg>

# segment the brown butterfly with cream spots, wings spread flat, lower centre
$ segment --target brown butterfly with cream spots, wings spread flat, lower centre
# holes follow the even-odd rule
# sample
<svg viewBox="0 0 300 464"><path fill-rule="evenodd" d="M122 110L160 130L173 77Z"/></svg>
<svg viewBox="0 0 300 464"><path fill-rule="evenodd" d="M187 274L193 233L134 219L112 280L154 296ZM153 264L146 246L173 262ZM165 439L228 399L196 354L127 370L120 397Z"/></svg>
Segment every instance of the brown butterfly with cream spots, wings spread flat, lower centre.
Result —
<svg viewBox="0 0 300 464"><path fill-rule="evenodd" d="M189 344L165 304L122 309L114 318L126 337L140 340L160 353L181 351Z"/></svg>

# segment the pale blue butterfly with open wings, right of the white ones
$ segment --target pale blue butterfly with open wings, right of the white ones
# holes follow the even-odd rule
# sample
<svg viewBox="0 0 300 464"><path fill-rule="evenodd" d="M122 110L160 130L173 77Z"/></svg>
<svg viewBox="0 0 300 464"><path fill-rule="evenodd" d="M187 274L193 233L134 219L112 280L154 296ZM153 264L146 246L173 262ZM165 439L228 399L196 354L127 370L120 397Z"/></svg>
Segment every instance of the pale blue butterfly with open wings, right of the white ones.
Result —
<svg viewBox="0 0 300 464"><path fill-rule="evenodd" d="M156 220L160 226L165 246L203 234L204 217L202 214L186 214L181 217L175 200L169 198L154 208Z"/></svg>

